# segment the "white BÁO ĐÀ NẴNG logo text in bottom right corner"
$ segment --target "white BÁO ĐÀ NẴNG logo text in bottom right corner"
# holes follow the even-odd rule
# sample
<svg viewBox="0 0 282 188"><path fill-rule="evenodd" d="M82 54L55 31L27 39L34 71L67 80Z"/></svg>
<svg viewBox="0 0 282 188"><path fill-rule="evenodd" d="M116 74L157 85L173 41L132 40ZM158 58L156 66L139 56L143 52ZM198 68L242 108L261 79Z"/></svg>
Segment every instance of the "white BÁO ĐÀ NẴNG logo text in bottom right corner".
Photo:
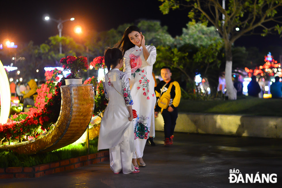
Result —
<svg viewBox="0 0 282 188"><path fill-rule="evenodd" d="M238 169L229 170L229 183L277 183L277 174L242 174Z"/></svg>

